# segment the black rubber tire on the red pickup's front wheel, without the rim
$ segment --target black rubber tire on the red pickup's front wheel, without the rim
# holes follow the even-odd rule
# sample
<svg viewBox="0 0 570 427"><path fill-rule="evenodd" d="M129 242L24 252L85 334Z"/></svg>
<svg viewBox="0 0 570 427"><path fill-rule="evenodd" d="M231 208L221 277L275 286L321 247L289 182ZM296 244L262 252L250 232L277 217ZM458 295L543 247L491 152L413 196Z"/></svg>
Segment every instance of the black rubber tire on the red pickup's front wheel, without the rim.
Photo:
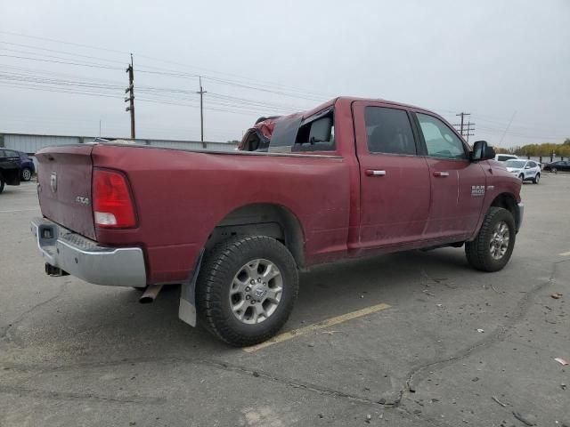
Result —
<svg viewBox="0 0 570 427"><path fill-rule="evenodd" d="M506 223L509 228L509 246L500 259L495 259L491 253L491 239L493 238L493 230L501 222ZM465 254L469 264L476 270L501 270L507 265L510 255L513 253L516 236L517 232L513 215L507 209L491 206L485 215L483 225L476 238L471 242L465 243Z"/></svg>

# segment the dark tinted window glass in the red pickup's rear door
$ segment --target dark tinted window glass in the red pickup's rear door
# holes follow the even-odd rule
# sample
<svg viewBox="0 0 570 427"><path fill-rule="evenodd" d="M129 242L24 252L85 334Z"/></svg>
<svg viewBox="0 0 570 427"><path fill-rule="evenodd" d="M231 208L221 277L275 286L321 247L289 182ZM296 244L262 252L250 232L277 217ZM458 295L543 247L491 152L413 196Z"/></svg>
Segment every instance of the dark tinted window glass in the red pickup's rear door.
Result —
<svg viewBox="0 0 570 427"><path fill-rule="evenodd" d="M364 123L371 153L417 154L410 119L403 109L366 107Z"/></svg>

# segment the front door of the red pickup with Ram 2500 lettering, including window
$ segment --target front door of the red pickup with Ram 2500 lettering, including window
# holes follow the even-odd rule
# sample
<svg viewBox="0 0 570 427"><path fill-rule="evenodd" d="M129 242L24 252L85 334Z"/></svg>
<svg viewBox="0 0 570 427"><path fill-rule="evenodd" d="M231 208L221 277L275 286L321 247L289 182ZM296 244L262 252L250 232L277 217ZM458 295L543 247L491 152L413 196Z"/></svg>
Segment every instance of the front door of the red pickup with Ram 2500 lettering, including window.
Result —
<svg viewBox="0 0 570 427"><path fill-rule="evenodd" d="M431 181L426 238L465 238L476 229L485 198L482 166L469 160L469 148L439 117L414 114L424 143ZM459 241L459 240L458 240Z"/></svg>

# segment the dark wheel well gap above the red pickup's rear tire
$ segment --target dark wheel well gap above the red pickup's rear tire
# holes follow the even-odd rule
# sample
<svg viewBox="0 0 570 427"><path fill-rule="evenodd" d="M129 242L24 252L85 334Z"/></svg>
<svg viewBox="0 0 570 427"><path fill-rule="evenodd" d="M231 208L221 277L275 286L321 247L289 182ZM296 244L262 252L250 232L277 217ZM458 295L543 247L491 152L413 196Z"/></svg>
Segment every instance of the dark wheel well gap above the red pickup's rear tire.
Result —
<svg viewBox="0 0 570 427"><path fill-rule="evenodd" d="M226 238L263 235L279 240L293 255L297 268L305 265L305 232L296 214L283 205L241 205L226 214L208 236L206 250Z"/></svg>

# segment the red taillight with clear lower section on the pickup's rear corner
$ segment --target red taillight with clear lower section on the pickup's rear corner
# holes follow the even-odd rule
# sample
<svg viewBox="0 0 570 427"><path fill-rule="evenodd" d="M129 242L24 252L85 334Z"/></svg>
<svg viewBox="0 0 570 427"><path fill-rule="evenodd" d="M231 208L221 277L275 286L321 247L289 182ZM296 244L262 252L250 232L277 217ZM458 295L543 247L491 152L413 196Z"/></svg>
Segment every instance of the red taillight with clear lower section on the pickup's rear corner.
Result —
<svg viewBox="0 0 570 427"><path fill-rule="evenodd" d="M110 229L134 227L134 204L122 173L94 169L93 209L95 225Z"/></svg>

